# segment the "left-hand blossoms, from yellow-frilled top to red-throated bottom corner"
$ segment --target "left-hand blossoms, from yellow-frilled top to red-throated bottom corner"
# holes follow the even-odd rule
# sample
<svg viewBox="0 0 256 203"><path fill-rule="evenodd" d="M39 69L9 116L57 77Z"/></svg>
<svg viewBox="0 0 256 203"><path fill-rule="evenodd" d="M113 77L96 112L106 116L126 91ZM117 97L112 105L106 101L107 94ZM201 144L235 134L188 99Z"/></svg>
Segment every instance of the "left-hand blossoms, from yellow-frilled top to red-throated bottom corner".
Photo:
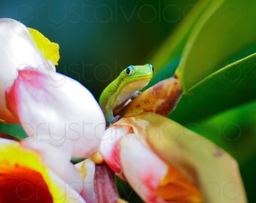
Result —
<svg viewBox="0 0 256 203"><path fill-rule="evenodd" d="M24 198L30 202L85 202L80 195L83 178L70 159L86 158L98 150L105 131L102 111L84 86L55 72L56 44L15 20L2 19L0 29L11 33L11 37L0 35L5 42L2 46L8 47L1 50L6 57L1 61L0 118L20 123L29 135L20 143L0 146L2 188L10 174L17 176L16 182L1 188L1 198L5 202ZM15 184L26 181L34 190L23 185L19 190L23 198L14 191ZM67 194L66 187L70 188ZM40 189L41 196L35 189Z"/></svg>

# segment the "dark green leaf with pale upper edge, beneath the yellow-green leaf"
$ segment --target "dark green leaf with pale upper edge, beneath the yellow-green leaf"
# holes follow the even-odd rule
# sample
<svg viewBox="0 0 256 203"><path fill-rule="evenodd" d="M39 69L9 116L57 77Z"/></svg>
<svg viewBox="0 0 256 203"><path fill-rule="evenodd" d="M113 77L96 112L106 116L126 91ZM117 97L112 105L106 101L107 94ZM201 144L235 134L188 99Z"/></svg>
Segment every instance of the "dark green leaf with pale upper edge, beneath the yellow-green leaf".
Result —
<svg viewBox="0 0 256 203"><path fill-rule="evenodd" d="M256 53L210 74L181 95L169 115L178 123L203 120L256 98Z"/></svg>

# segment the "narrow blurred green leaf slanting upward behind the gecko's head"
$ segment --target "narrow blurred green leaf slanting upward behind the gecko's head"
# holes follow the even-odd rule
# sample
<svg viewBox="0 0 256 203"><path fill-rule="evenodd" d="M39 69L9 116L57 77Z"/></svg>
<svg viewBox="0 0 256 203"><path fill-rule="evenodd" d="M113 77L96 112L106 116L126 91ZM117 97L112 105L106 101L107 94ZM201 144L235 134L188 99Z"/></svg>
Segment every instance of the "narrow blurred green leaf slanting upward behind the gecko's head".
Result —
<svg viewBox="0 0 256 203"><path fill-rule="evenodd" d="M190 36L190 32L196 25L197 20L200 19L203 11L207 6L209 6L210 2L212 2L212 0L198 2L194 9L187 14L186 18L181 25L178 26L175 32L166 39L165 43L160 47L160 50L158 50L151 59L152 64L156 67L155 73L158 73L158 71L166 66L168 67L169 62L172 62L173 59L181 56L182 50L187 42L187 38ZM171 76L172 70L168 77ZM166 77L163 79L166 79Z"/></svg>

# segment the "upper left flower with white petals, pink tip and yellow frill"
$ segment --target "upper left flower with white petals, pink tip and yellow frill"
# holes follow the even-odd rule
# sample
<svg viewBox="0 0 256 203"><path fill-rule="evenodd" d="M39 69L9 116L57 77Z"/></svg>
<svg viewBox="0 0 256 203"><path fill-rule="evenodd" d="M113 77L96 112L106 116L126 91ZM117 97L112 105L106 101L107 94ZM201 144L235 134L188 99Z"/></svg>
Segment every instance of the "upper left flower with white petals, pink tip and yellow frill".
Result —
<svg viewBox="0 0 256 203"><path fill-rule="evenodd" d="M1 71L7 71L0 78L0 118L20 123L30 141L44 140L62 149L67 159L93 154L105 120L81 83L53 71L59 46L16 20L2 19L0 29L2 47L8 47L1 50Z"/></svg>

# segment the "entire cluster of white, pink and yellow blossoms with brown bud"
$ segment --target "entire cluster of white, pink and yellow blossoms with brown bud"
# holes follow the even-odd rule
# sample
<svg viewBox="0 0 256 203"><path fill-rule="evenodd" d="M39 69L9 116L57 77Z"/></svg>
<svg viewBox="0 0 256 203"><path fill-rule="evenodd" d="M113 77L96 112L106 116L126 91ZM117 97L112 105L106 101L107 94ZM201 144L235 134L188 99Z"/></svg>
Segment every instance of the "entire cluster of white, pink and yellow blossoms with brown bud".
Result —
<svg viewBox="0 0 256 203"><path fill-rule="evenodd" d="M116 195L112 174L89 159L76 168L70 162L99 150L146 202L246 202L232 157L163 117L181 95L178 79L147 89L105 130L93 95L55 72L56 44L15 20L0 20L0 31L0 118L29 135L20 143L0 140L1 201L105 202ZM114 195L108 201L121 202Z"/></svg>

